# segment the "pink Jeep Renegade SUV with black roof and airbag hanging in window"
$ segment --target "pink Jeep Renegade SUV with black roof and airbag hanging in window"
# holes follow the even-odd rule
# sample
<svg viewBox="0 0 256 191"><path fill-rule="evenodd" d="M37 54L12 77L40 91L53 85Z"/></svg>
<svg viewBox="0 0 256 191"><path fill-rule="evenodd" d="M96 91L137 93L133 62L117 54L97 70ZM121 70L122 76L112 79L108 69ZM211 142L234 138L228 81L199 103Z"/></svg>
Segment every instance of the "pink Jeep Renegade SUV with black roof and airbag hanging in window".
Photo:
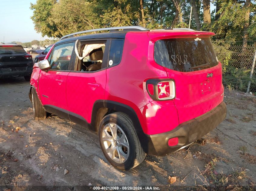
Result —
<svg viewBox="0 0 256 191"><path fill-rule="evenodd" d="M100 30L109 32L77 36ZM138 26L66 35L33 67L35 120L49 112L98 132L120 170L185 148L226 117L213 35Z"/></svg>

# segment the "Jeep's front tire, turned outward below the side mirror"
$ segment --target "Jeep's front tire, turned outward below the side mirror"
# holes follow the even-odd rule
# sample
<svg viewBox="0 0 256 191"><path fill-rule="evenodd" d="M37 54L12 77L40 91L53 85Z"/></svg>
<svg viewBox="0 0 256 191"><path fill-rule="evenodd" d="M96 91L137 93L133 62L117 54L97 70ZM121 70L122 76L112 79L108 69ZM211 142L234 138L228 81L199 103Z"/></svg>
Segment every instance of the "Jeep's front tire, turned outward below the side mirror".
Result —
<svg viewBox="0 0 256 191"><path fill-rule="evenodd" d="M38 99L38 96L34 88L32 88L31 94L32 94L32 107L33 107L34 119L35 120L46 119L46 111L43 108L40 100Z"/></svg>

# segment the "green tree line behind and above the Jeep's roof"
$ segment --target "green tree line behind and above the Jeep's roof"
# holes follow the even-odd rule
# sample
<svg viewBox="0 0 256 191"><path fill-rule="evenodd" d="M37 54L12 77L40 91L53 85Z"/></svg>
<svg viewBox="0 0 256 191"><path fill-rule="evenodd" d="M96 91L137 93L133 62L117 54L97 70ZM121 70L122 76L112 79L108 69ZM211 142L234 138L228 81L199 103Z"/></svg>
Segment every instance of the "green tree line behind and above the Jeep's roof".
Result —
<svg viewBox="0 0 256 191"><path fill-rule="evenodd" d="M37 0L30 8L35 30L48 37L129 25L188 27L192 12L190 28L212 31L216 41L246 46L256 40L256 4L251 0Z"/></svg>

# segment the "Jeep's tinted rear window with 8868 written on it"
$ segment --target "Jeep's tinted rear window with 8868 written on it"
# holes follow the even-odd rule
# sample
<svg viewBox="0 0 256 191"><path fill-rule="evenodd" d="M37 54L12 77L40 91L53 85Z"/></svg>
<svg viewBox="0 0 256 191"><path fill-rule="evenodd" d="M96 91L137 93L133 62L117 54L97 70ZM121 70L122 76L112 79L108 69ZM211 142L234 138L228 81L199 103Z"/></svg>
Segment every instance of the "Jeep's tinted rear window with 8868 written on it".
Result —
<svg viewBox="0 0 256 191"><path fill-rule="evenodd" d="M218 65L210 38L158 40L155 42L154 58L159 65L180 72L192 72ZM204 67L196 67L202 64Z"/></svg>

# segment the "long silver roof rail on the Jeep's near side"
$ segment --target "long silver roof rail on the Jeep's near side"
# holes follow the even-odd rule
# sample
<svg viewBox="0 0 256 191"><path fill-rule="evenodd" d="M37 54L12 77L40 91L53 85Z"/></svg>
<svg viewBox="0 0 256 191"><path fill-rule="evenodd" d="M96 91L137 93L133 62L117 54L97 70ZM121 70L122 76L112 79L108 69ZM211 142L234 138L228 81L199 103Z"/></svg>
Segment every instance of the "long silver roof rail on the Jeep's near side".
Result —
<svg viewBox="0 0 256 191"><path fill-rule="evenodd" d="M107 27L107 28L91 29L91 30L84 30L84 31L76 32L76 33L71 33L71 34L68 34L68 35L65 35L65 36L61 37L60 40L65 39L65 38L70 37L70 36L77 35L77 34L82 34L82 33L89 33L89 32L101 31L101 30L117 31L117 30L121 30L121 29L123 29L123 30L125 30L125 29L148 30L147 28L140 27L140 26Z"/></svg>

